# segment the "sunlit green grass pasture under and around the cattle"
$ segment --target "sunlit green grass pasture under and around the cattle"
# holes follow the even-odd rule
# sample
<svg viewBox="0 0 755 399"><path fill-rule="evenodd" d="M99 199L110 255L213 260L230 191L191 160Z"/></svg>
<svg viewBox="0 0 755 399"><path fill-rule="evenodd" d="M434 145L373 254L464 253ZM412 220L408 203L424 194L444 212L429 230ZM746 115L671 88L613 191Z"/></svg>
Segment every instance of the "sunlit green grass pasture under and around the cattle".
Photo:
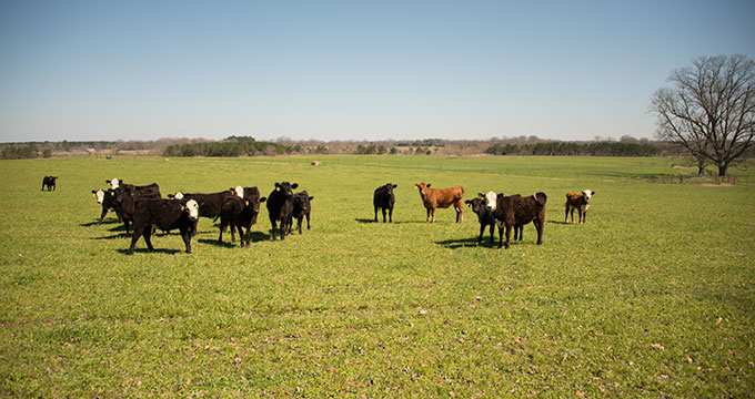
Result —
<svg viewBox="0 0 755 399"><path fill-rule="evenodd" d="M687 171L670 158L311 160L1 161L0 396L755 392L754 186L671 184ZM263 205L250 249L201 218L192 255L173 232L128 256L114 215L95 224L90 192L112 177L163 196L296 182L312 229L272 242ZM387 182L394 223L374 223ZM479 246L469 207L425 223L419 182L545 192L543 245L527 225L509 250ZM584 188L587 224L564 224Z"/></svg>

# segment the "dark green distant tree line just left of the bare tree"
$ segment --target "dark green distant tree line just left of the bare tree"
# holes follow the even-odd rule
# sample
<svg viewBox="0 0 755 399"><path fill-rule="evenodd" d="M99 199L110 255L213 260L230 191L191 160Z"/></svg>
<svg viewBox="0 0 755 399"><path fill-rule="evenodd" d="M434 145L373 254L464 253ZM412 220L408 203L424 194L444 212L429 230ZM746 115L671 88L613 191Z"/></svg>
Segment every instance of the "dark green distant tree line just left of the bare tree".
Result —
<svg viewBox="0 0 755 399"><path fill-rule="evenodd" d="M533 144L495 143L485 150L492 155L594 155L594 156L655 156L661 149L651 143L627 142L540 142Z"/></svg>

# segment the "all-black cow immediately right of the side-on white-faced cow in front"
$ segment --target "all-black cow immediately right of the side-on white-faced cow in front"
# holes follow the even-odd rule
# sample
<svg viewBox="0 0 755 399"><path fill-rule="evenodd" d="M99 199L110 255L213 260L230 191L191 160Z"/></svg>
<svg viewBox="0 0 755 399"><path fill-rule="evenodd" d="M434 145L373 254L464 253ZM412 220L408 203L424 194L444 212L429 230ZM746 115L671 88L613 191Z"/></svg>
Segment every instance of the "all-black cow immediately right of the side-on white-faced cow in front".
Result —
<svg viewBox="0 0 755 399"><path fill-rule="evenodd" d="M256 215L260 213L260 203L265 202L265 197L260 198L260 192L256 187L256 193L249 191L244 194L244 200L236 195L229 195L223 201L223 206L220 211L220 235L218 242L223 242L223 232L226 226L231 226L231 243L235 244L235 229L239 231L239 239L241 247L246 246L252 242L252 225L256 223ZM243 233L243 228L246 233Z"/></svg>

